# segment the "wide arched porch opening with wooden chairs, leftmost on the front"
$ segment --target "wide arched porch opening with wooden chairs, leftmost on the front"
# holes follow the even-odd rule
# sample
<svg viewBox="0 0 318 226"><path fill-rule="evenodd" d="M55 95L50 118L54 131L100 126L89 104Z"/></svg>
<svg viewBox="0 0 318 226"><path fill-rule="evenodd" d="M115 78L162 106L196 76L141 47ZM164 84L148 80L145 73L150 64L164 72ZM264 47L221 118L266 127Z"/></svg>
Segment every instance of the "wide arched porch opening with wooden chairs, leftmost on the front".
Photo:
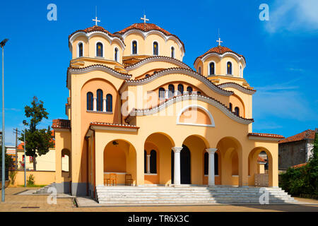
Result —
<svg viewBox="0 0 318 226"><path fill-rule="evenodd" d="M136 184L136 149L124 140L107 143L104 149L104 184L110 174L116 174L117 185L124 185L126 174L131 174Z"/></svg>

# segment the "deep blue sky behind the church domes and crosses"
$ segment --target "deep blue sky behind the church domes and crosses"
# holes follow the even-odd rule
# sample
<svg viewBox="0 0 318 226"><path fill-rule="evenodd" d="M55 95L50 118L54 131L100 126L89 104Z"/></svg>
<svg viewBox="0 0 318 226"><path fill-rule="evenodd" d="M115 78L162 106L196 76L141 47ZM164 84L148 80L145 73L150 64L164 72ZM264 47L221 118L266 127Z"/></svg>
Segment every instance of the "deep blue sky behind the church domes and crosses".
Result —
<svg viewBox="0 0 318 226"><path fill-rule="evenodd" d="M47 20L47 5L57 5L57 21ZM118 5L119 4L119 5ZM259 20L260 4L269 21ZM318 127L318 1L5 1L0 8L0 39L5 47L6 145L13 128L23 128L24 107L36 95L49 119L66 119L68 35L94 25L95 6L110 32L149 23L177 35L185 45L184 62L223 45L247 59L245 79L253 96L254 132L292 136Z"/></svg>

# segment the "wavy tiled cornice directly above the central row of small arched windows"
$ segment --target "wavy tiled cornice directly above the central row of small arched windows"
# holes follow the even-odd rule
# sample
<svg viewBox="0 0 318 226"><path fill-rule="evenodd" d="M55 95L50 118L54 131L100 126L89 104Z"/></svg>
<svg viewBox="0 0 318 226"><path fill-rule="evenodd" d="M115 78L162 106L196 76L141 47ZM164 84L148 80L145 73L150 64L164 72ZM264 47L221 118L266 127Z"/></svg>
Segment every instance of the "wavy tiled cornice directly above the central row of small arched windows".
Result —
<svg viewBox="0 0 318 226"><path fill-rule="evenodd" d="M182 68L164 69L163 71L159 71L153 74L153 76L149 76L148 78L142 78L138 80L126 80L122 88L119 90L119 93L122 93L122 90L126 88L126 86L145 85L147 83L151 83L157 78L160 78L162 76L166 76L169 74L175 74L175 73L182 73L184 75L196 78L202 83L204 83L205 85L207 85L208 88L211 88L211 90L213 90L214 92L220 95L230 96L233 94L232 91L223 90L222 88L219 88L218 85L213 84L211 81L208 80L208 78L201 76L199 73L196 73L196 71L193 71L192 69L182 69Z"/></svg>

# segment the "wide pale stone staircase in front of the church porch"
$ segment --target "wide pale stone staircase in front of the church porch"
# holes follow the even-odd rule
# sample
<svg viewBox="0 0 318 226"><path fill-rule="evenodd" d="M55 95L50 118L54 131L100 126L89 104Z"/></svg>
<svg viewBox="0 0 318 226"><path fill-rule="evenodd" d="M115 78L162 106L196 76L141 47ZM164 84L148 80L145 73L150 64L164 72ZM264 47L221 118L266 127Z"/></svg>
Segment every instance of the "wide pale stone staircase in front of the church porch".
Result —
<svg viewBox="0 0 318 226"><path fill-rule="evenodd" d="M269 204L296 203L281 188L235 186L97 186L98 203L151 204L151 203L259 203L265 189ZM261 191L261 192L260 192ZM264 199L263 199L264 200Z"/></svg>

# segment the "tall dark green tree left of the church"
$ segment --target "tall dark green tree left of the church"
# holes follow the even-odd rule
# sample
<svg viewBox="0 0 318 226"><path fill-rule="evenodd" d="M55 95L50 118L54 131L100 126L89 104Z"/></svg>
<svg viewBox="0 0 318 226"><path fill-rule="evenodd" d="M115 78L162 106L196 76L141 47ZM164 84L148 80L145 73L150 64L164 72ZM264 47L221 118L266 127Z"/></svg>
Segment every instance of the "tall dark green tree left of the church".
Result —
<svg viewBox="0 0 318 226"><path fill-rule="evenodd" d="M52 142L51 129L37 129L38 124L42 119L48 119L46 109L43 107L43 102L33 97L31 107L25 106L25 117L30 118L30 121L23 121L25 126L29 126L21 133L20 141L23 141L25 133L25 154L33 157L33 169L36 170L36 157L37 155L45 155L49 152L49 148L54 147Z"/></svg>

